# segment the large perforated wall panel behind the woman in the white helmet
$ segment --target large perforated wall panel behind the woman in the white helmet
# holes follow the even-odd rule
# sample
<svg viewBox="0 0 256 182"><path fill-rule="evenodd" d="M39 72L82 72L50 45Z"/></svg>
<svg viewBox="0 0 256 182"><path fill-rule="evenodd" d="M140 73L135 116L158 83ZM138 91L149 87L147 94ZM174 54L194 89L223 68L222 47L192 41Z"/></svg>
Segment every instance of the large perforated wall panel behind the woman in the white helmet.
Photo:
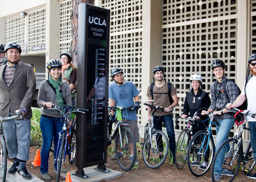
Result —
<svg viewBox="0 0 256 182"><path fill-rule="evenodd" d="M201 74L203 89L210 93L214 59L224 61L225 74L235 81L236 13L235 0L162 1L162 65L179 98L174 117L182 114L191 74Z"/></svg>

